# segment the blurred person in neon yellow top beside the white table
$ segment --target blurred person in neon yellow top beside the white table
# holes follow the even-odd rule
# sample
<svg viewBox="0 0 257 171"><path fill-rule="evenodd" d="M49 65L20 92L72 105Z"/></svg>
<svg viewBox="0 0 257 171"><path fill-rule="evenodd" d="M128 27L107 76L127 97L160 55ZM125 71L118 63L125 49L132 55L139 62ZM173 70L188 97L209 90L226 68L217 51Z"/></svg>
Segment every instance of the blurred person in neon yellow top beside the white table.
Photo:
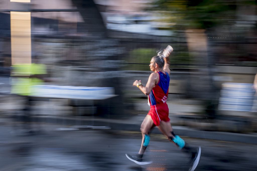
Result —
<svg viewBox="0 0 257 171"><path fill-rule="evenodd" d="M46 74L46 67L44 64L15 64L12 66L12 89L11 93L22 99L23 104L23 121L25 128L29 134L33 134L31 128L31 95L32 86L41 85L44 83L42 75Z"/></svg>

